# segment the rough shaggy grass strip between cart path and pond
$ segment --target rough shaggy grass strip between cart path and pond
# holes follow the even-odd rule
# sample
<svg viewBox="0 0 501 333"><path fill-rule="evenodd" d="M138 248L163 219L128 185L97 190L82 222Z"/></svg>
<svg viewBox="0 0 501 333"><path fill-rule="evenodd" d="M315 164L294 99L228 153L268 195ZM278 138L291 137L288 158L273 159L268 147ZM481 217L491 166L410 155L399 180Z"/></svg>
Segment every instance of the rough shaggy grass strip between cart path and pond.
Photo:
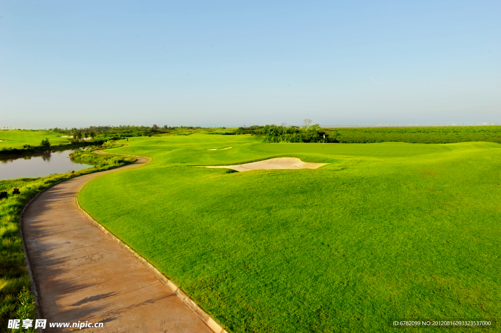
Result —
<svg viewBox="0 0 501 333"><path fill-rule="evenodd" d="M92 159L89 156L92 156ZM64 173L47 177L0 181L0 190L9 192L7 199L0 200L0 332L11 331L11 329L7 328L9 319L35 318L30 279L19 233L19 215L24 205L37 192L52 186L58 181L122 166L134 160L133 158L124 159L122 157L98 155L90 151L80 153L76 158L77 160L80 158L81 160L93 162L96 167L80 170L74 174ZM18 187L21 193L13 195L12 190L14 187ZM35 332L36 330L31 328L23 331Z"/></svg>

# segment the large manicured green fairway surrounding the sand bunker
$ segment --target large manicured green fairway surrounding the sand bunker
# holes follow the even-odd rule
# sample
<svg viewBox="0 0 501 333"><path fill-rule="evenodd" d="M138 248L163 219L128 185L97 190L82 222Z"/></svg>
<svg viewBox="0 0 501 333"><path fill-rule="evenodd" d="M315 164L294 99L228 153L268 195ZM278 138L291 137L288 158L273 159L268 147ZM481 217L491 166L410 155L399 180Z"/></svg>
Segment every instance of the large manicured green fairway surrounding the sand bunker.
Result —
<svg viewBox="0 0 501 333"><path fill-rule="evenodd" d="M501 145L261 140L133 138L110 152L152 161L89 182L80 204L233 332L499 318ZM192 167L282 156L330 164Z"/></svg>

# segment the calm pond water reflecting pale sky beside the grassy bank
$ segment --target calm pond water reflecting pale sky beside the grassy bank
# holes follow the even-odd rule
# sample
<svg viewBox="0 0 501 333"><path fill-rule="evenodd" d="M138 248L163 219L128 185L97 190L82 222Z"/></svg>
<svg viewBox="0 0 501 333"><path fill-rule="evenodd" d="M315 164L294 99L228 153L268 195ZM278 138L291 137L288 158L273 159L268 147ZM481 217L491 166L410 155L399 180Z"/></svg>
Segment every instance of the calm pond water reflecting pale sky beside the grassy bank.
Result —
<svg viewBox="0 0 501 333"><path fill-rule="evenodd" d="M64 173L91 168L91 165L73 162L72 150L42 153L35 156L0 157L0 180L24 177L43 177L52 173Z"/></svg>

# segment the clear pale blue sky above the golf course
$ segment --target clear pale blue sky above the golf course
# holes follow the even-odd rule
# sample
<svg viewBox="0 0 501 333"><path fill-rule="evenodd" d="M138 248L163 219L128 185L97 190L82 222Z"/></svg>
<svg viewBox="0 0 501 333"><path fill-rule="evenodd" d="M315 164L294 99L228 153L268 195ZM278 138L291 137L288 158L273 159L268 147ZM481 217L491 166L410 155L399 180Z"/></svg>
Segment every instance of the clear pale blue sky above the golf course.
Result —
<svg viewBox="0 0 501 333"><path fill-rule="evenodd" d="M501 122L501 2L0 2L0 127Z"/></svg>

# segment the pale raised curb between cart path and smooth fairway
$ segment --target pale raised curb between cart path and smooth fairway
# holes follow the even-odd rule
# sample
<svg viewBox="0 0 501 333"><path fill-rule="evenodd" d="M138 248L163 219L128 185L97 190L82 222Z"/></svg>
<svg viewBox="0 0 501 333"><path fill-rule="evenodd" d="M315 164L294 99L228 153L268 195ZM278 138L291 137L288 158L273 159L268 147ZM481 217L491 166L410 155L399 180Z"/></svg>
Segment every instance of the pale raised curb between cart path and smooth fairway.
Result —
<svg viewBox="0 0 501 333"><path fill-rule="evenodd" d="M131 155L130 155L131 156ZM142 156L141 156L142 157ZM75 197L75 202L77 204L78 210L97 228L99 228L102 232L108 235L115 243L120 245L124 250L129 252L130 255L140 263L142 263L146 268L155 275L157 279L160 280L163 284L169 287L176 296L190 309L192 309L201 319L202 321L214 332L214 333L229 333L224 327L218 323L214 318L212 318L207 312L205 312L193 299L188 297L188 295L177 286L172 280L167 278L162 272L160 272L155 266L153 266L148 260L143 258L139 253L134 251L129 245L125 244L121 239L111 233L106 227L104 227L101 223L96 221L92 216L89 215L78 203L78 194Z"/></svg>

